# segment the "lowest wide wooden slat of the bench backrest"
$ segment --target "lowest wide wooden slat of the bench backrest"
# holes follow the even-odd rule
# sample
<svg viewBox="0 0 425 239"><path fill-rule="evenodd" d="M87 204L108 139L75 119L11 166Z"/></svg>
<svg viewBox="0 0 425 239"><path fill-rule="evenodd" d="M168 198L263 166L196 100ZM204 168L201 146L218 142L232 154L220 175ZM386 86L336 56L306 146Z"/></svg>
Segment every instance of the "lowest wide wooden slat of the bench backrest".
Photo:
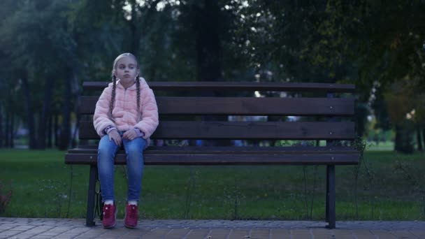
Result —
<svg viewBox="0 0 425 239"><path fill-rule="evenodd" d="M99 139L92 122L81 122L80 139ZM151 138L161 139L354 139L353 122L162 121Z"/></svg>

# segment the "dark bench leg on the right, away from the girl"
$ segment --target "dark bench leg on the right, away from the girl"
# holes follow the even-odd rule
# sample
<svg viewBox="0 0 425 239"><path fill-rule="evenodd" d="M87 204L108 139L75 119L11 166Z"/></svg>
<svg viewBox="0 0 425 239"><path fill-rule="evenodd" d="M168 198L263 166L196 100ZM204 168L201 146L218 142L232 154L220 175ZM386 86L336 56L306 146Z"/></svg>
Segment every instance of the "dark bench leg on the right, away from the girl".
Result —
<svg viewBox="0 0 425 239"><path fill-rule="evenodd" d="M335 229L335 165L326 168L326 228Z"/></svg>

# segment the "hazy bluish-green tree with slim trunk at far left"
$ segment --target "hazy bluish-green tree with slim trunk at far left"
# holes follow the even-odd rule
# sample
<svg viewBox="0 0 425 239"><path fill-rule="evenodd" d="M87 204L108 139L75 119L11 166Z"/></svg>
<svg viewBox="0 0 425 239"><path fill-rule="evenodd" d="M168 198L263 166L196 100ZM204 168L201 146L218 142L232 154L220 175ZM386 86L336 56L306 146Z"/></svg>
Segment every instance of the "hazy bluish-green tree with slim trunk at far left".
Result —
<svg viewBox="0 0 425 239"><path fill-rule="evenodd" d="M70 2L17 1L1 25L1 50L13 65L10 77L22 80L31 148L45 148L54 85L60 84L57 78L62 78L64 69L75 64L75 41L63 17ZM37 99L42 99L41 107ZM34 115L39 115L37 133Z"/></svg>

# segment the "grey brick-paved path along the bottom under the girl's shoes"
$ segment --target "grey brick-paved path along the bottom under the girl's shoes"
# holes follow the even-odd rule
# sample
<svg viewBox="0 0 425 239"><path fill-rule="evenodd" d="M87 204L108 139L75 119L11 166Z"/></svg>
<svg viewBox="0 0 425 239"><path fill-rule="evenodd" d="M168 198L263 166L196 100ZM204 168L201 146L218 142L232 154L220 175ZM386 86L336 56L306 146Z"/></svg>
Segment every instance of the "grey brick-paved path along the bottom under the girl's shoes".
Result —
<svg viewBox="0 0 425 239"><path fill-rule="evenodd" d="M0 238L425 238L425 222L143 220L136 229L85 226L85 219L0 217Z"/></svg>

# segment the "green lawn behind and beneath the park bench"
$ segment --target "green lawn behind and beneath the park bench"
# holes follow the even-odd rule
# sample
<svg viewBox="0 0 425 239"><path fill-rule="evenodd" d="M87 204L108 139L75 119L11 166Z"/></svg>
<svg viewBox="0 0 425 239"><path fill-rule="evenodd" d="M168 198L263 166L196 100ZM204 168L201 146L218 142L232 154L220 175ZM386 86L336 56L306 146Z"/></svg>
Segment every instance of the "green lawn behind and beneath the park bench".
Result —
<svg viewBox="0 0 425 239"><path fill-rule="evenodd" d="M0 181L13 190L4 217L85 217L88 166L64 164L56 150L0 150ZM424 219L425 155L368 151L369 176L361 168L358 186L361 220ZM408 176L397 170L401 161ZM141 213L145 219L310 219L315 166L146 166ZM317 167L311 219L324 219L326 168ZM408 179L410 177L410 179ZM115 168L119 217L127 186L124 167ZM356 219L354 166L336 166L336 217ZM71 199L70 208L68 203ZM237 206L235 206L237 202ZM235 208L236 213L235 213Z"/></svg>

